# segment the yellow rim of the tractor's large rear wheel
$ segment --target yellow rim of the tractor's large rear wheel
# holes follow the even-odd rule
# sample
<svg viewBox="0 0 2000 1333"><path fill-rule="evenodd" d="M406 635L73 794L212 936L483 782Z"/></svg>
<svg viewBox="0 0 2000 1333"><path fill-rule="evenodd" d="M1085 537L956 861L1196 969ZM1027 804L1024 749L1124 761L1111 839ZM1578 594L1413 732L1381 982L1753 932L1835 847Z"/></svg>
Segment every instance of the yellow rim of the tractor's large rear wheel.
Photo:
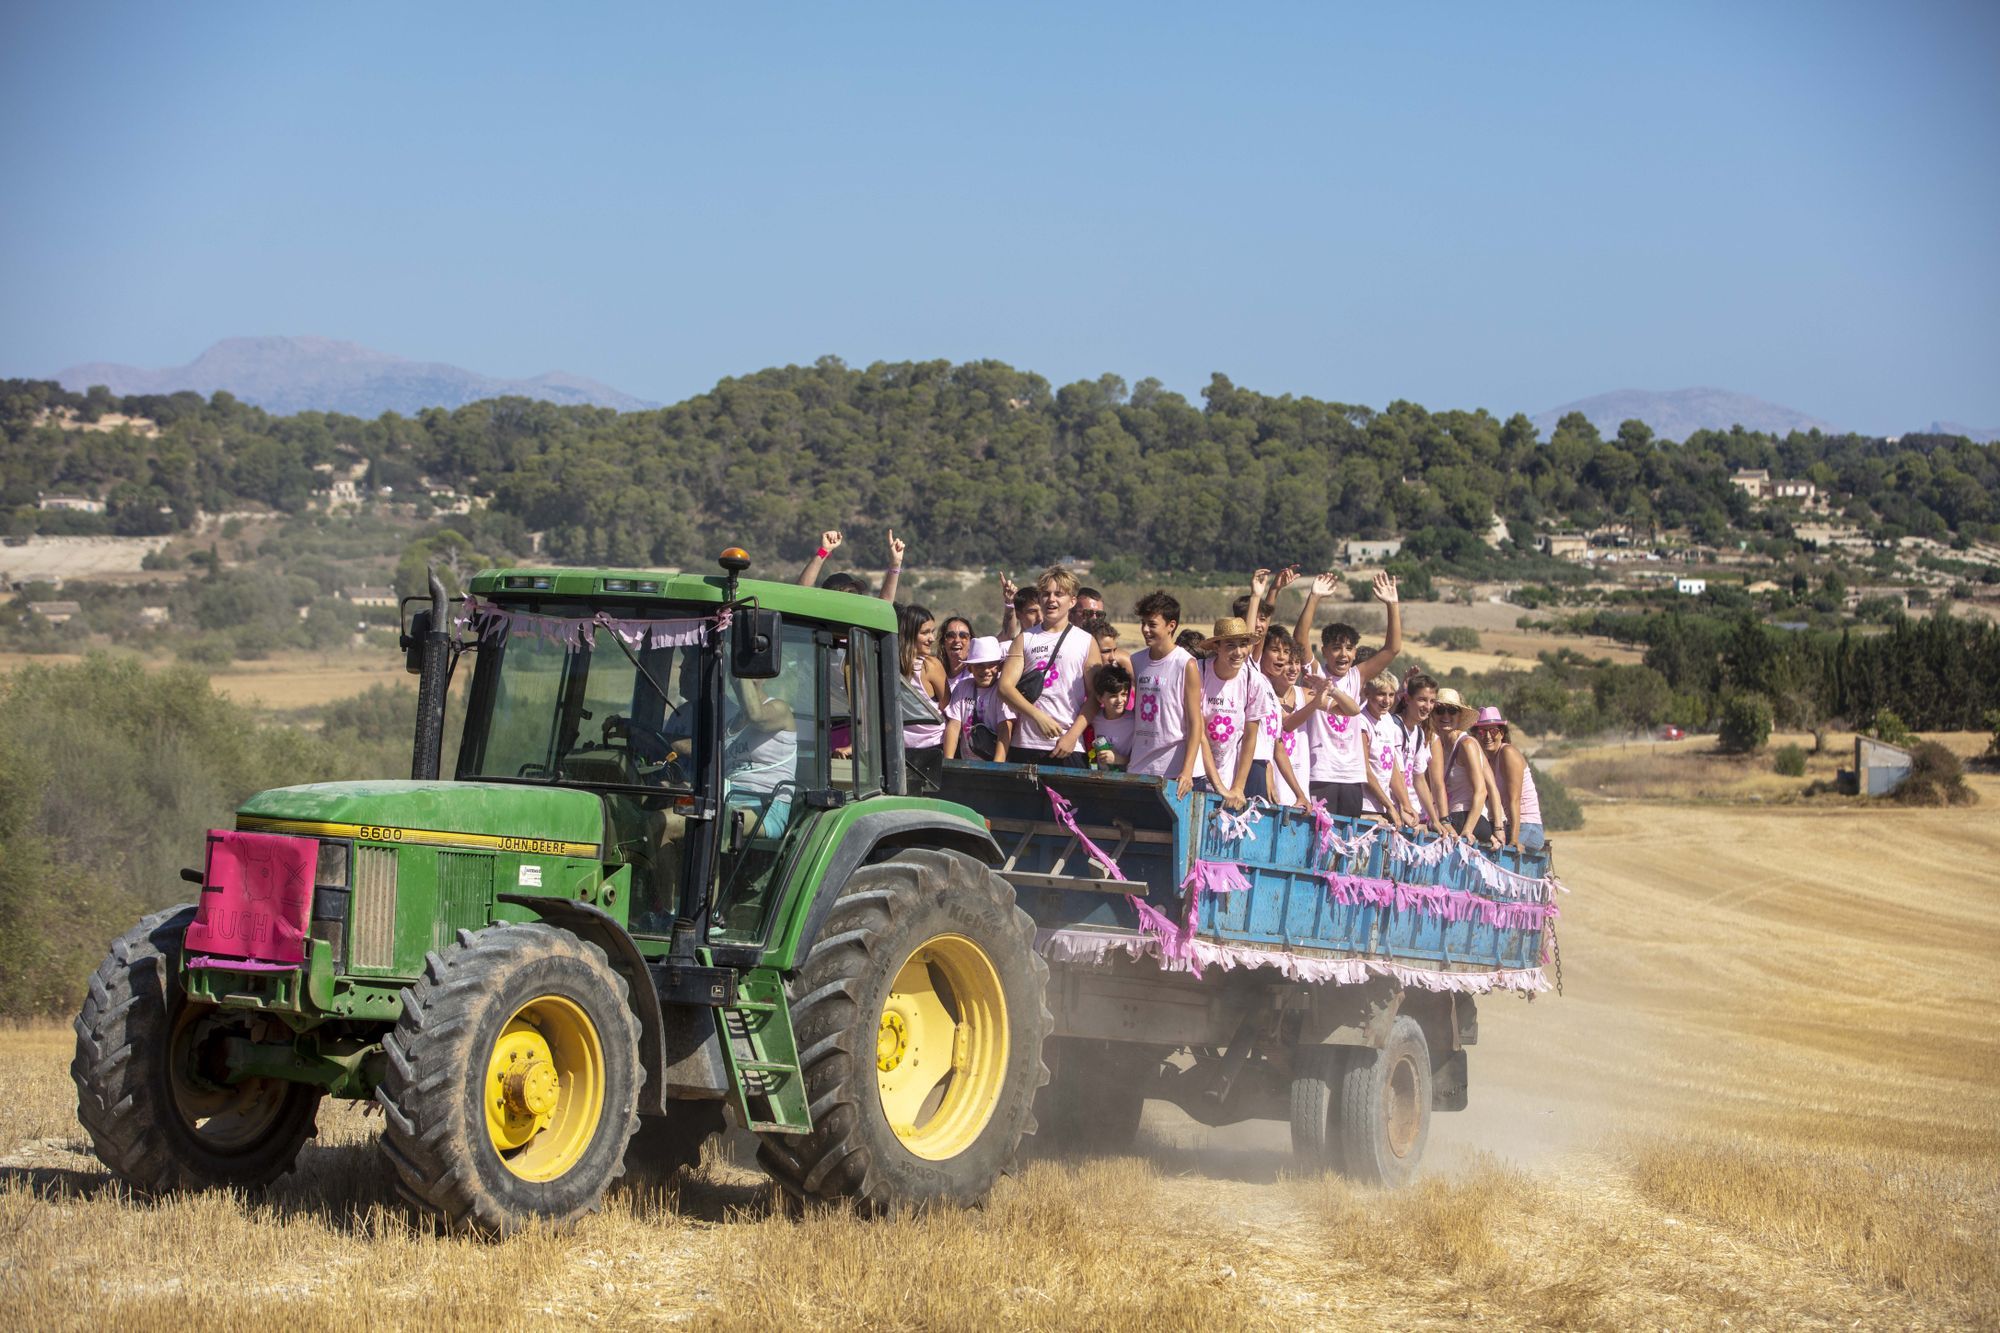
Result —
<svg viewBox="0 0 2000 1333"><path fill-rule="evenodd" d="M964 935L918 945L896 973L876 1031L876 1089L902 1145L928 1161L980 1137L1006 1083L1006 995Z"/></svg>

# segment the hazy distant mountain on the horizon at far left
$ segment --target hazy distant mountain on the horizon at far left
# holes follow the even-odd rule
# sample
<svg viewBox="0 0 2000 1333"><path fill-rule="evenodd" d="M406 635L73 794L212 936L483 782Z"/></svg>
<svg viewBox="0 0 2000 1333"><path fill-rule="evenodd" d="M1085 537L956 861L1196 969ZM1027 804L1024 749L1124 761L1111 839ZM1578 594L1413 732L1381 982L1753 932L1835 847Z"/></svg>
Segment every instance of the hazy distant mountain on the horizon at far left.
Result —
<svg viewBox="0 0 2000 1333"><path fill-rule="evenodd" d="M346 412L380 416L428 406L454 408L480 398L520 394L562 404L596 404L638 412L658 406L576 374L496 380L436 360L404 360L332 338L224 338L186 366L142 370L90 362L56 374L64 388L104 384L114 394L198 394L228 390L266 412Z"/></svg>

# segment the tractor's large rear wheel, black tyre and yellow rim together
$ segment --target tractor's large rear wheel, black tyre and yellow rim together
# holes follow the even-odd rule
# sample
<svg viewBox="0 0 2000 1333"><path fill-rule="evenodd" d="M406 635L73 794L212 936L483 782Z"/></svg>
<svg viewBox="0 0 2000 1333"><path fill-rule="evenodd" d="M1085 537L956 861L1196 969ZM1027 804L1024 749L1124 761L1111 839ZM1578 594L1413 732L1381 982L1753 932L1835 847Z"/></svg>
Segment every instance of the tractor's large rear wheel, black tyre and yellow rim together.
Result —
<svg viewBox="0 0 2000 1333"><path fill-rule="evenodd" d="M1034 1133L1048 965L1014 889L950 851L858 869L798 971L812 1133L758 1161L800 1199L978 1203Z"/></svg>

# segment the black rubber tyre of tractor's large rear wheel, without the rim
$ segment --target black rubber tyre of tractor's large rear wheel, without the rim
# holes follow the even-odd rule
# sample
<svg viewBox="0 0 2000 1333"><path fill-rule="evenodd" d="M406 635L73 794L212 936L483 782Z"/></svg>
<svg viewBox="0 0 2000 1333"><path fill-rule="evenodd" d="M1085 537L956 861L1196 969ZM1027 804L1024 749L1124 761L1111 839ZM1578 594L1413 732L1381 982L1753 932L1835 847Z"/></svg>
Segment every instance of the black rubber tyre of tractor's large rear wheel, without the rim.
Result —
<svg viewBox="0 0 2000 1333"><path fill-rule="evenodd" d="M1034 1133L1034 1095L1048 1081L1042 1043L1054 1021L1034 923L1004 879L950 851L900 851L858 869L838 893L792 985L812 1133L762 1135L758 1161L798 1199L850 1199L870 1213L978 1203ZM892 1057L878 1043L892 983L940 937L970 941L990 963L1008 1043L978 1131L948 1157L922 1157L884 1115L878 1063ZM950 1099L952 1085L938 1087Z"/></svg>

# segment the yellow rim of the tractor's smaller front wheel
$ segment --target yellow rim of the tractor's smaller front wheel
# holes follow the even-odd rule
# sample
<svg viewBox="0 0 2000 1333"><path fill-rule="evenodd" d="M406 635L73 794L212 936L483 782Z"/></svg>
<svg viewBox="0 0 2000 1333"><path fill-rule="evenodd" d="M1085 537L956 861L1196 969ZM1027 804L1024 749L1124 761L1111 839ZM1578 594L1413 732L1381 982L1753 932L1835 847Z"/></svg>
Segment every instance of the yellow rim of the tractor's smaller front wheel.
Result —
<svg viewBox="0 0 2000 1333"><path fill-rule="evenodd" d="M554 1181L604 1119L604 1043L576 1001L542 995L500 1029L486 1061L486 1137L508 1171Z"/></svg>

